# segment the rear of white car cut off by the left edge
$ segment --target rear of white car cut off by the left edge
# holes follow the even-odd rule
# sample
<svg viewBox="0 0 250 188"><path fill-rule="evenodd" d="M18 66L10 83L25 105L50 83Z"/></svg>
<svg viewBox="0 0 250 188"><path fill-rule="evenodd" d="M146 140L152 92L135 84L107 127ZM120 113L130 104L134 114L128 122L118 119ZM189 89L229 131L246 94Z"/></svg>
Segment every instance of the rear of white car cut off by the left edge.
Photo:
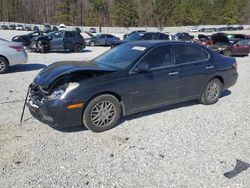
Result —
<svg viewBox="0 0 250 188"><path fill-rule="evenodd" d="M9 66L27 63L28 56L23 45L0 38L0 74L6 73Z"/></svg>

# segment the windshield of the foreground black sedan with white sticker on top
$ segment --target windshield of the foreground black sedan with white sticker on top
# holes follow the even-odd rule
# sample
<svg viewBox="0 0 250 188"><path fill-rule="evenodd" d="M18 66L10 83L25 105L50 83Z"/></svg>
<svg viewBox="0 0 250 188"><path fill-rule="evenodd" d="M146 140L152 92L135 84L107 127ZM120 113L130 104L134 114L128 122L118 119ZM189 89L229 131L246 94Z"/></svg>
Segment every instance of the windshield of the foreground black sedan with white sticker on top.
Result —
<svg viewBox="0 0 250 188"><path fill-rule="evenodd" d="M144 46L126 43L107 51L93 61L98 65L125 69L139 58L146 49Z"/></svg>

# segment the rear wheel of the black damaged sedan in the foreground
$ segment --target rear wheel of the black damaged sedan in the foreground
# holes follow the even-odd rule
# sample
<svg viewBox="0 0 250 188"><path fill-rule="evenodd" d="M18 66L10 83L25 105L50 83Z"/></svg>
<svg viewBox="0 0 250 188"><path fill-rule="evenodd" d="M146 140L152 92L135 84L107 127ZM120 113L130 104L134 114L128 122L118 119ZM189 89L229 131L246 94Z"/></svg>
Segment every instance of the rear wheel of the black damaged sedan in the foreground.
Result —
<svg viewBox="0 0 250 188"><path fill-rule="evenodd" d="M200 102L205 105L215 104L220 98L221 90L222 83L219 79L210 80L201 95Z"/></svg>

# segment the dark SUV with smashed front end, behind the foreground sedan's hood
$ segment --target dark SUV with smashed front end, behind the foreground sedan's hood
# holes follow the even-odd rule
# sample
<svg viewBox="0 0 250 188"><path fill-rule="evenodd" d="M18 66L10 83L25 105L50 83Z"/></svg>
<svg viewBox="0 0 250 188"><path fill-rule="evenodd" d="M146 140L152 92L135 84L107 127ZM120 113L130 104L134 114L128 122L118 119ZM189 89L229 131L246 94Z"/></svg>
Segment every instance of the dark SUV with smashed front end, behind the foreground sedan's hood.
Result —
<svg viewBox="0 0 250 188"><path fill-rule="evenodd" d="M37 52L70 50L81 52L85 47L85 40L77 31L54 31L38 36L31 46Z"/></svg>

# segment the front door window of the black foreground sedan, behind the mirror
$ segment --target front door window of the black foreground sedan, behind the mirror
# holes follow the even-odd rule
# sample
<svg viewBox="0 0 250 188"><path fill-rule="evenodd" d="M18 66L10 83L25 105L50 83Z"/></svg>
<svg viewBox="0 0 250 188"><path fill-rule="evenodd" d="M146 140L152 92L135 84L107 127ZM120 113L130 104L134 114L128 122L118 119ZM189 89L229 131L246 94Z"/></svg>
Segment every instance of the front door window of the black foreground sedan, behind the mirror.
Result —
<svg viewBox="0 0 250 188"><path fill-rule="evenodd" d="M144 56L141 62L149 64L151 69L173 65L172 46L165 45L154 48Z"/></svg>

